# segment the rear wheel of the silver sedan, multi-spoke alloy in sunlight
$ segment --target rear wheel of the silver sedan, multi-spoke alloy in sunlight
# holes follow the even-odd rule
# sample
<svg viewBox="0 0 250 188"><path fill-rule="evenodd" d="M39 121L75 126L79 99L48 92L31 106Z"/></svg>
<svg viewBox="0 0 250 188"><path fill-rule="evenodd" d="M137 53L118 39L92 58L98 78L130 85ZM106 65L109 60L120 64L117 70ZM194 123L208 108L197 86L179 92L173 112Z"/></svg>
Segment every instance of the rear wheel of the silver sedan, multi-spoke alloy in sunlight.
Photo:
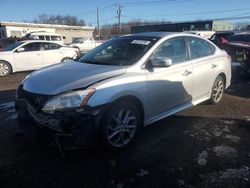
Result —
<svg viewBox="0 0 250 188"><path fill-rule="evenodd" d="M211 104L218 104L221 102L225 90L225 81L221 75L219 75L213 84L212 93L210 98Z"/></svg>

